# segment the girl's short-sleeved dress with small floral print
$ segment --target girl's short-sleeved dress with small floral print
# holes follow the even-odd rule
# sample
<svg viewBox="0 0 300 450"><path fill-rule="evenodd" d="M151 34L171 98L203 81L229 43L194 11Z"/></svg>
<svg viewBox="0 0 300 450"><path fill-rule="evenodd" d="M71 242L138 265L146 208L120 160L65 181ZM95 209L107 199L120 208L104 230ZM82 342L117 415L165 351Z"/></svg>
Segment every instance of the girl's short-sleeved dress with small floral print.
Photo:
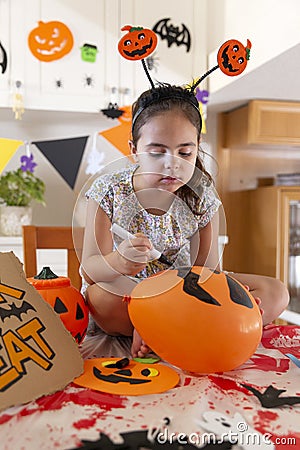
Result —
<svg viewBox="0 0 300 450"><path fill-rule="evenodd" d="M173 267L191 265L190 239L205 227L220 206L220 200L212 185L202 191L199 211L194 214L186 203L174 195L169 210L162 215L146 211L139 203L133 188L133 175L138 165L97 178L86 193L87 198L95 200L109 217L132 234L142 232L152 242ZM121 240L113 235L114 249ZM150 261L135 277L146 278L168 268L157 260Z"/></svg>

